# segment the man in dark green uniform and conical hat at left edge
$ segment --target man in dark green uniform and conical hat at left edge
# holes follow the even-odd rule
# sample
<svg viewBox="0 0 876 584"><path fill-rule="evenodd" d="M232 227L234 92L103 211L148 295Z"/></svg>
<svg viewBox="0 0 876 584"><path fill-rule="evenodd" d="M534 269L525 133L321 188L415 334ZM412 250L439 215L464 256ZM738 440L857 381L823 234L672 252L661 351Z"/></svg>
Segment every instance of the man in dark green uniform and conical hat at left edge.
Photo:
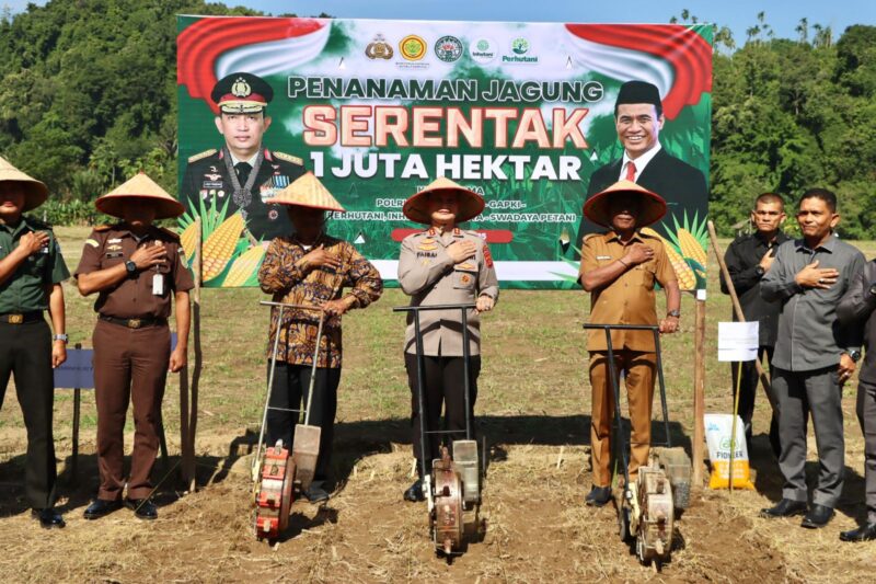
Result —
<svg viewBox="0 0 876 584"><path fill-rule="evenodd" d="M10 375L27 427L25 496L43 527L64 527L55 511L55 383L67 360L64 290L70 272L51 229L22 214L48 198L42 182L0 158L0 405ZM51 330L44 318L48 310Z"/></svg>

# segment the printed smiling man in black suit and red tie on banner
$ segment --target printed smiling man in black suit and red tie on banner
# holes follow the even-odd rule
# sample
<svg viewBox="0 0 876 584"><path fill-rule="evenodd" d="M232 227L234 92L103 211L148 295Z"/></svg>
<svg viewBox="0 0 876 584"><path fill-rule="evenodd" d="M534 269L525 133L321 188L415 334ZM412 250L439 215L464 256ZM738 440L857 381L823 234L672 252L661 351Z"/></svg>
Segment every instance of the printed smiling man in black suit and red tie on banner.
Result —
<svg viewBox="0 0 876 584"><path fill-rule="evenodd" d="M645 81L627 81L621 85L614 103L614 127L623 145L623 158L593 172L587 198L620 180L627 180L666 199L668 215L675 215L679 222L684 209L689 217L695 211L701 219L705 217L708 204L705 176L662 149L659 135L665 121L656 85ZM599 226L581 216L576 245L580 248L584 236L599 230Z"/></svg>

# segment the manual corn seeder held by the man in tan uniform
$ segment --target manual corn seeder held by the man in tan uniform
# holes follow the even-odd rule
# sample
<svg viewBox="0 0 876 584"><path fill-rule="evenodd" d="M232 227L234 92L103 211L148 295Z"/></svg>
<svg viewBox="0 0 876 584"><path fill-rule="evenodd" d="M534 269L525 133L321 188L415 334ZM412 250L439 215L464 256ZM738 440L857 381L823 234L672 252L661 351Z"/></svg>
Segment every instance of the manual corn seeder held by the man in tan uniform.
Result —
<svg viewBox="0 0 876 584"><path fill-rule="evenodd" d="M609 359L609 380L614 392L614 466L623 468L623 489L615 489L618 527L622 541L635 541L636 556L643 564L667 562L672 552L675 522L690 504L691 459L681 447L672 447L669 434L669 413L666 404L660 330L645 324L585 324L587 330L606 332ZM621 388L614 366L612 330L652 331L657 357L657 379L664 415L665 447L653 447L648 465L638 468L638 478L630 482L627 445L621 426ZM616 481L615 481L616 482Z"/></svg>

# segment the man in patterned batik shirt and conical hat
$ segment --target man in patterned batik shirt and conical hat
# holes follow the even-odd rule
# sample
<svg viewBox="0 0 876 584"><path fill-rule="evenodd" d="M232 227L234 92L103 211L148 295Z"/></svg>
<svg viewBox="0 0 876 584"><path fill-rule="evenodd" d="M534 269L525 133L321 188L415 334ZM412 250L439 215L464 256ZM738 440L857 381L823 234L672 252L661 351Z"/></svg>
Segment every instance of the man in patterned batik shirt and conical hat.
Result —
<svg viewBox="0 0 876 584"><path fill-rule="evenodd" d="M311 403L303 403L310 409L310 424L322 428L313 482L304 493L315 503L328 499L324 483L341 382L341 316L380 298L383 282L351 243L325 233L325 211L343 213L344 208L312 173L298 179L269 203L287 206L293 232L270 242L258 271L262 290L272 294L276 302L322 307L325 312L313 396ZM268 358L277 334L277 309L274 310ZM268 444L281 439L291 447L298 414L288 410L300 409L307 401L319 319L315 310L284 311L269 400L276 409L269 410L267 416Z"/></svg>

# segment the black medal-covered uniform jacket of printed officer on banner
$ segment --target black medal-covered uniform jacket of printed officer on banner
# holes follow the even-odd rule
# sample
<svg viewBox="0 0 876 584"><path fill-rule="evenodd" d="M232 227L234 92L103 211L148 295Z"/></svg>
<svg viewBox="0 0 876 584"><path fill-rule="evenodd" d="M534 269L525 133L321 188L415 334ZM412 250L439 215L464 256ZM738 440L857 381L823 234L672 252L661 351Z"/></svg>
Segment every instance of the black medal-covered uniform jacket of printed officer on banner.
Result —
<svg viewBox="0 0 876 584"><path fill-rule="evenodd" d="M229 178L224 149L207 150L188 159L183 178L182 198L189 208L203 204L216 210L227 206L226 217L239 210L233 199L234 187ZM303 161L293 156L264 149L264 160L252 187L252 201L246 211L246 228L262 241L292 231L286 210L280 205L266 205L265 201L304 174ZM232 159L233 161L233 159ZM246 162L246 161L244 161ZM252 164L251 164L252 165ZM241 184L243 186L243 184Z"/></svg>

